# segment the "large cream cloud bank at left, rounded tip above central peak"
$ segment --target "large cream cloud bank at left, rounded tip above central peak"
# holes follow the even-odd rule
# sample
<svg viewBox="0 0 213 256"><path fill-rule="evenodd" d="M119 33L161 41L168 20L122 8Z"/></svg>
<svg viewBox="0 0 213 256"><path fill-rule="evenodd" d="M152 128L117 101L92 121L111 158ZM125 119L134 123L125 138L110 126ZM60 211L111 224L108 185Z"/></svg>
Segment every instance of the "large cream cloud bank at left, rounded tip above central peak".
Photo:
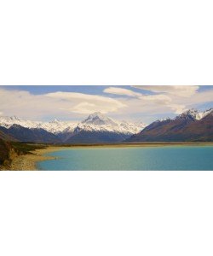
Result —
<svg viewBox="0 0 213 256"><path fill-rule="evenodd" d="M83 93L55 92L33 95L26 90L0 88L0 108L5 115L24 119L79 119L79 114L116 112L126 108L124 102L105 96ZM2 114L2 113L0 113Z"/></svg>

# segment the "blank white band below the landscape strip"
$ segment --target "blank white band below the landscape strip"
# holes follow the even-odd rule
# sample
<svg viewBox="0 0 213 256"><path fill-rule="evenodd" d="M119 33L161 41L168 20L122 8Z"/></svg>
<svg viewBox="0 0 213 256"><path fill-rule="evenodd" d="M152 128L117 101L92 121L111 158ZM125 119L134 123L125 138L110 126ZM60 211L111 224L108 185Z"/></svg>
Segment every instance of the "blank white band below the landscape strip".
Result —
<svg viewBox="0 0 213 256"><path fill-rule="evenodd" d="M0 175L3 256L213 253L213 172Z"/></svg>

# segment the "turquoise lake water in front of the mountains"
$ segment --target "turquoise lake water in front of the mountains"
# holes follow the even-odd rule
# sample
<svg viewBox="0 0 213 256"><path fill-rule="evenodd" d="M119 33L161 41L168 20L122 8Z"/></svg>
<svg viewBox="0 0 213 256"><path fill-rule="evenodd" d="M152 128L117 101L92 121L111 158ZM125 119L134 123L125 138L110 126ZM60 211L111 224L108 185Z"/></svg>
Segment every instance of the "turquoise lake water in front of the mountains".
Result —
<svg viewBox="0 0 213 256"><path fill-rule="evenodd" d="M213 170L213 147L69 148L46 155L39 170Z"/></svg>

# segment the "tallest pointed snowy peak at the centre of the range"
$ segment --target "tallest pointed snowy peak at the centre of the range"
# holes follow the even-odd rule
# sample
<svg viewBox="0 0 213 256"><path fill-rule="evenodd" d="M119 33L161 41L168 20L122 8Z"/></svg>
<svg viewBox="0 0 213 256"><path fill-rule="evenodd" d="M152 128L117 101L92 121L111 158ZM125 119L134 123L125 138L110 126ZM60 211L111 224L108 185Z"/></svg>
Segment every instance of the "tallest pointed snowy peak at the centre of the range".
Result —
<svg viewBox="0 0 213 256"><path fill-rule="evenodd" d="M106 115L101 112L95 112L89 114L87 119L82 121L82 124L90 125L117 125L112 119L108 118Z"/></svg>

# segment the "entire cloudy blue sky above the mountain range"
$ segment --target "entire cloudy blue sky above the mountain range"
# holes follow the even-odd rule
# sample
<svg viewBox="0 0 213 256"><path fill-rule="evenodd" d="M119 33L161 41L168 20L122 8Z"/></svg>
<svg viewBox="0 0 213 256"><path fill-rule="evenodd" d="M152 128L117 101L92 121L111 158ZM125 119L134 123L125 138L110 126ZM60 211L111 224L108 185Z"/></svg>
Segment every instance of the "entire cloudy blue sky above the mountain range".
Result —
<svg viewBox="0 0 213 256"><path fill-rule="evenodd" d="M40 121L82 120L101 112L114 119L151 123L190 108L213 108L207 85L0 86L0 115Z"/></svg>

